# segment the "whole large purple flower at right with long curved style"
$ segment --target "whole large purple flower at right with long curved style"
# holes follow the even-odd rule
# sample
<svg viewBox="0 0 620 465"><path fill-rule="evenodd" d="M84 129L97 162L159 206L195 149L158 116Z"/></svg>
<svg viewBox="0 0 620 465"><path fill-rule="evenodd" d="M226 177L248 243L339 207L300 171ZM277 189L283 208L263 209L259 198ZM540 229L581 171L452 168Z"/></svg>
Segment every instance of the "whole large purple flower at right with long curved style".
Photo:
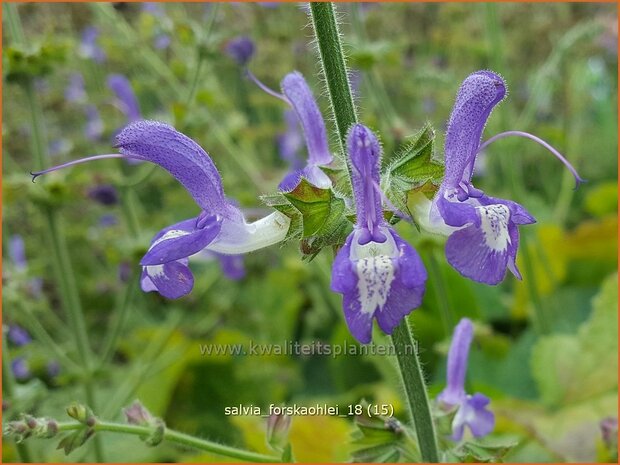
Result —
<svg viewBox="0 0 620 465"><path fill-rule="evenodd" d="M489 197L473 186L476 155L489 143L508 135L533 139L558 157L581 179L555 149L535 136L509 131L482 146L482 131L493 108L506 96L504 80L491 71L478 71L463 81L448 122L445 142L445 176L420 224L448 235L446 258L462 275L486 284L498 284L506 269L521 278L515 260L519 246L518 226L536 220L521 205Z"/></svg>

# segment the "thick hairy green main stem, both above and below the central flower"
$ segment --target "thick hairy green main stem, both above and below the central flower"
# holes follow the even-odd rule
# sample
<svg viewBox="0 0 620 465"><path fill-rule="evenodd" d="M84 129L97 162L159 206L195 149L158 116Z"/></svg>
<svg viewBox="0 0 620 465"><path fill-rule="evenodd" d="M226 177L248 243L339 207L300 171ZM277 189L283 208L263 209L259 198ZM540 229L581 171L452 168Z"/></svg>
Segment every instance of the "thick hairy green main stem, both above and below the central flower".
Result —
<svg viewBox="0 0 620 465"><path fill-rule="evenodd" d="M349 87L334 5L332 3L312 2L310 9L332 111L340 136L341 148L345 153L347 132L351 125L357 122L357 114ZM410 354L410 348L415 346L406 320L403 320L394 330L392 342L396 349L398 364L407 393L407 403L415 423L422 460L424 462L438 462L435 428L424 377L420 369L417 352L414 351L412 355Z"/></svg>

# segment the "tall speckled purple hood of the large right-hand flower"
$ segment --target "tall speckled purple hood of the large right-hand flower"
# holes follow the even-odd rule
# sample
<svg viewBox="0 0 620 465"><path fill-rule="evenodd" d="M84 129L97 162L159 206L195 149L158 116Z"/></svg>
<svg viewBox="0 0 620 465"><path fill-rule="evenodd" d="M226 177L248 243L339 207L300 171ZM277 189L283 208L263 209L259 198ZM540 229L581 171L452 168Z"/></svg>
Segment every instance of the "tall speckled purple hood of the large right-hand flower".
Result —
<svg viewBox="0 0 620 465"><path fill-rule="evenodd" d="M490 71L475 72L463 81L448 122L442 187L457 187L471 179L486 121L505 95L504 80Z"/></svg>

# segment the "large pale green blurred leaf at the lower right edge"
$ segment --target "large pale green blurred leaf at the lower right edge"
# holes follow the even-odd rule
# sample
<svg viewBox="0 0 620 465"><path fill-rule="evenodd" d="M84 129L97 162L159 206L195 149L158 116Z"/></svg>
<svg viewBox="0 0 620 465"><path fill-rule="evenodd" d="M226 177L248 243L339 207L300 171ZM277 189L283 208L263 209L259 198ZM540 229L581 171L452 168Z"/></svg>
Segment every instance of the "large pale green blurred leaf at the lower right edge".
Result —
<svg viewBox="0 0 620 465"><path fill-rule="evenodd" d="M532 374L545 403L575 403L618 386L617 275L593 299L590 319L577 334L553 334L532 350Z"/></svg>

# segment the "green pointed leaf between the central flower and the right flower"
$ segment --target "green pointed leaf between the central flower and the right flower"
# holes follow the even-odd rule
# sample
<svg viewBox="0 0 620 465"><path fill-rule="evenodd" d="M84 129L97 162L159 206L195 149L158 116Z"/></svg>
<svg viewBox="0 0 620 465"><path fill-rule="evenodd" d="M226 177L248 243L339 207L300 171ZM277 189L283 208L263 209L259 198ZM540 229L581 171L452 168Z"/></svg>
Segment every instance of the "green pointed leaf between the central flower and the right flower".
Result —
<svg viewBox="0 0 620 465"><path fill-rule="evenodd" d="M403 212L408 212L411 191L434 193L443 179L444 166L434 157L435 130L426 124L408 139L384 169L381 186L387 198Z"/></svg>

